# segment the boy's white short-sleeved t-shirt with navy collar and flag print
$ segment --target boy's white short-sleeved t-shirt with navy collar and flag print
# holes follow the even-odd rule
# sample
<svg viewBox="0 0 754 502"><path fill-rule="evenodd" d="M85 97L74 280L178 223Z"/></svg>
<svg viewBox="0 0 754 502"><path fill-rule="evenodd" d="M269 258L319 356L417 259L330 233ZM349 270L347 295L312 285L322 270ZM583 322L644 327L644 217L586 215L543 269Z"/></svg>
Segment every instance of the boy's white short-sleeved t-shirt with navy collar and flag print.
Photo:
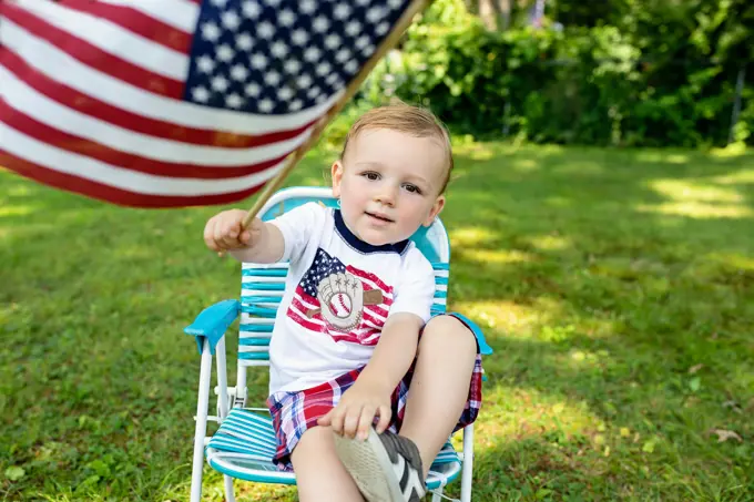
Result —
<svg viewBox="0 0 754 502"><path fill-rule="evenodd" d="M269 344L269 393L299 391L366 365L387 317L426 322L435 296L431 264L410 240L371 246L340 212L304 204L271 222L291 268Z"/></svg>

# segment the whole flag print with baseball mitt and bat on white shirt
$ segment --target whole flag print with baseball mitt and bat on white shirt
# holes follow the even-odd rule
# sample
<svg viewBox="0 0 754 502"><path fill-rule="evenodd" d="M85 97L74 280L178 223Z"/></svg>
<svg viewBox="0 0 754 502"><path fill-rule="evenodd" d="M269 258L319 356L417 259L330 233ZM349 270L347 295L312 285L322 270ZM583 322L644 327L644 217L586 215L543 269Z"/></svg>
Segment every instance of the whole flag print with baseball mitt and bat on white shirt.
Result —
<svg viewBox="0 0 754 502"><path fill-rule="evenodd" d="M377 345L393 305L393 286L319 248L294 293L287 316L335 341Z"/></svg>

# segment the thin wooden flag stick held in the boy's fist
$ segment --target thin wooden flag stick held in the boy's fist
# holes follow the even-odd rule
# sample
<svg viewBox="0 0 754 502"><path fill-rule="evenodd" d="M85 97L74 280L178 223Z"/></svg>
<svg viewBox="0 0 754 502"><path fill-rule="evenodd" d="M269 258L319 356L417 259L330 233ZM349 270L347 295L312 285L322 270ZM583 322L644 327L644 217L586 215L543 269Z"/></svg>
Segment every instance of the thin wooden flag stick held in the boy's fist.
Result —
<svg viewBox="0 0 754 502"><path fill-rule="evenodd" d="M356 94L356 91L358 91L358 89L361 86L361 83L364 83L364 81L369 75L371 70L377 65L379 60L383 59L383 57L387 54L387 52L398 43L400 37L403 37L404 32L408 29L408 27L411 25L414 17L418 12L425 10L425 8L430 2L431 0L416 0L411 2L411 4L408 7L408 9L406 9L406 11L404 11L403 16L396 22L393 31L390 31L390 33L385 38L385 40L383 40L383 42L379 44L375 53L371 54L371 58L367 60L364 66L361 66L361 70L356 74L354 80L351 80L348 88L346 88L346 91L340 98L340 100L338 100L333 105L333 107L327 112L327 114L317 122L317 124L312 130L312 135L309 136L309 139L303 145L296 148L295 152L291 153L291 155L286 160L285 166L281 170L281 172L277 173L277 175L273 180L267 182L264 189L259 194L259 198L256 199L254 206L248 211L246 217L244 217L243 221L244 228L246 228L252 223L254 217L256 217L257 213L267 203L267 201L269 201L269 197L272 197L272 195L281 188L286 176L304 157L306 152L312 146L314 146L317 140L319 140L319 136L325 131L325 127L327 127L327 124L329 124L330 120L335 115L340 113L343 107L350 101L354 94Z"/></svg>

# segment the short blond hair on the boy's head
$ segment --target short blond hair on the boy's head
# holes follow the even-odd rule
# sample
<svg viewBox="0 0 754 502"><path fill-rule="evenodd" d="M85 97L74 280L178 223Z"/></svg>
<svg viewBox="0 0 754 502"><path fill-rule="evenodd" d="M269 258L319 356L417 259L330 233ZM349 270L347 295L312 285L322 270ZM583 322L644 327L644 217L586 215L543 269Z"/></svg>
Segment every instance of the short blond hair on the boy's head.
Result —
<svg viewBox="0 0 754 502"><path fill-rule="evenodd" d="M447 168L442 180L440 194L445 193L454 167L450 135L442 123L429 110L405 103L389 104L375 107L361 115L348 130L346 141L343 144L340 160L346 155L348 143L364 131L370 129L389 129L399 133L416 137L435 137L440 141L446 154Z"/></svg>

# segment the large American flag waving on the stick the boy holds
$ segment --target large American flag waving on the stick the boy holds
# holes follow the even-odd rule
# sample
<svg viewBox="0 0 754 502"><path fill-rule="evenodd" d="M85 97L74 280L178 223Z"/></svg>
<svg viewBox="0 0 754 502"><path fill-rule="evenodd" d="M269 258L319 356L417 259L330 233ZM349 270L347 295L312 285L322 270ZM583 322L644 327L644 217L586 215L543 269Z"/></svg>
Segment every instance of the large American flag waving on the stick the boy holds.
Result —
<svg viewBox="0 0 754 502"><path fill-rule="evenodd" d="M408 0L0 0L0 166L115 204L258 191Z"/></svg>

